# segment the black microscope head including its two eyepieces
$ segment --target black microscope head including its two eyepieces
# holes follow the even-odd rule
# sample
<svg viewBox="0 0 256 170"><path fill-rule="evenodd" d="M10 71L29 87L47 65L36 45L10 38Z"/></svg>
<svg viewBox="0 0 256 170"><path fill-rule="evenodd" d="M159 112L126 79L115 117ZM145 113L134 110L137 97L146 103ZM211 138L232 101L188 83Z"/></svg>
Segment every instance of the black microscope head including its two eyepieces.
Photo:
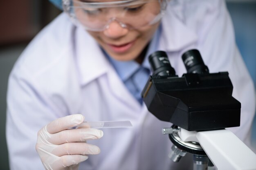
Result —
<svg viewBox="0 0 256 170"><path fill-rule="evenodd" d="M178 77L165 52L150 55L153 75L141 94L148 110L188 131L240 126L241 104L232 97L228 72L209 73L198 50L185 52L182 59L188 73Z"/></svg>

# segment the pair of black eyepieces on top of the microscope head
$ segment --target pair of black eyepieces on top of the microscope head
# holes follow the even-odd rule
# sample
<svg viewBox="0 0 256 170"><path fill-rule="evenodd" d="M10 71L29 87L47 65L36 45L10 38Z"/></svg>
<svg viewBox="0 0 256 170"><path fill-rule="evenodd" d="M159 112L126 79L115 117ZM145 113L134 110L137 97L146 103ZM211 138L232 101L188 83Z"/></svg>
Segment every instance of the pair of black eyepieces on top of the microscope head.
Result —
<svg viewBox="0 0 256 170"><path fill-rule="evenodd" d="M149 63L153 69L153 75L175 76L175 70L172 68L164 51L156 51L149 58ZM201 54L198 50L189 50L182 55L183 63L188 73L208 74L209 69L204 65Z"/></svg>

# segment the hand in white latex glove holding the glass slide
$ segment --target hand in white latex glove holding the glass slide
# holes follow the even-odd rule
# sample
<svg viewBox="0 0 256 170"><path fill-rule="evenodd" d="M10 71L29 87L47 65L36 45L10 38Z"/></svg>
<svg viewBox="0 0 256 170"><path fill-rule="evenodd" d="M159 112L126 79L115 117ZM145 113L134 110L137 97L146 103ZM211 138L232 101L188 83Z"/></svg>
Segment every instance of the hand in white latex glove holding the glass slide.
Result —
<svg viewBox="0 0 256 170"><path fill-rule="evenodd" d="M70 129L83 120L83 115L74 114L58 118L38 131L36 151L45 169L78 170L78 164L88 159L88 155L100 153L98 146L85 141L101 138L101 130Z"/></svg>

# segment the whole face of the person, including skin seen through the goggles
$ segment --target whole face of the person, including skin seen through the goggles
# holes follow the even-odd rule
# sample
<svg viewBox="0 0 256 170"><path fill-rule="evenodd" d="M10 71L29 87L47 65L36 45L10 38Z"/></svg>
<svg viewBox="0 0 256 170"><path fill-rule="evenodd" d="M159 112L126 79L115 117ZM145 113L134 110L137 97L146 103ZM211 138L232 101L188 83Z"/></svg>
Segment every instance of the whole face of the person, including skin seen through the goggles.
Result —
<svg viewBox="0 0 256 170"><path fill-rule="evenodd" d="M101 2L104 1L106 0L101 0ZM147 2L147 0L144 0L144 2L145 1ZM153 34L159 26L159 22L153 25L140 26L137 29L129 29L121 26L119 20L124 20L124 24L128 23L127 25L137 26L152 20L152 18L159 13L159 10L160 5L158 0L151 0L150 3L142 5L135 4L128 7L103 8L100 10L88 8L86 9L86 14L85 9L83 9L83 11L77 11L76 16L78 19L81 16L79 20L83 25L93 23L90 24L90 26L99 25L101 20L105 21L105 18L107 18L105 22L108 20L108 27L105 30L98 32L88 31L88 33L94 37L99 45L113 59L119 61L135 60L141 63L144 55L140 54L153 37ZM85 15L87 22L85 22L85 19L82 20L82 17L85 18ZM121 22L123 23L123 21Z"/></svg>

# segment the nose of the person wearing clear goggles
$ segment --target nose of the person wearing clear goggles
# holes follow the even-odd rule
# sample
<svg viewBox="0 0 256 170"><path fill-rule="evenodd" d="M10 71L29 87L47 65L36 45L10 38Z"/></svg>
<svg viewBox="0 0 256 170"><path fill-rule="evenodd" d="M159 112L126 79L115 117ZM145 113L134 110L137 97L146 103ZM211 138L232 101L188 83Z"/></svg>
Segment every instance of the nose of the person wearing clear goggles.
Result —
<svg viewBox="0 0 256 170"><path fill-rule="evenodd" d="M128 28L122 27L121 23L114 20L108 24L108 27L103 33L109 38L117 39L126 35L128 33Z"/></svg>

